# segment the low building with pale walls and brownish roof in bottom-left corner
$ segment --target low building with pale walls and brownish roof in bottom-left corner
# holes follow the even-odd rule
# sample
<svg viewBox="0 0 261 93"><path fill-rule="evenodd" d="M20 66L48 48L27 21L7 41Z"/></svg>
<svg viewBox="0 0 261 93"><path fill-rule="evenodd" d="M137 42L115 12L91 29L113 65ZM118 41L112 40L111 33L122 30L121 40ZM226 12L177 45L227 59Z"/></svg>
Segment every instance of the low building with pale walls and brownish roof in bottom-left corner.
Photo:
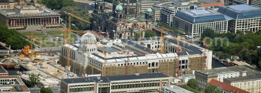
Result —
<svg viewBox="0 0 261 93"><path fill-rule="evenodd" d="M1 93L31 93L19 76L0 76Z"/></svg>

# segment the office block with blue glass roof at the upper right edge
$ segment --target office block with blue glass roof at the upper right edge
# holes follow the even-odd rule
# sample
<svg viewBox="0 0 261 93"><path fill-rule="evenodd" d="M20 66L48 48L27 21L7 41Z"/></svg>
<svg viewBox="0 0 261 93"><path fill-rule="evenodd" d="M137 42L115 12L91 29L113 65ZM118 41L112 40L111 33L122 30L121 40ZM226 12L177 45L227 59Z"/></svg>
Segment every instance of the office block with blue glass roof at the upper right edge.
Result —
<svg viewBox="0 0 261 93"><path fill-rule="evenodd" d="M220 7L217 12L229 17L228 31L260 31L261 9L247 4Z"/></svg>

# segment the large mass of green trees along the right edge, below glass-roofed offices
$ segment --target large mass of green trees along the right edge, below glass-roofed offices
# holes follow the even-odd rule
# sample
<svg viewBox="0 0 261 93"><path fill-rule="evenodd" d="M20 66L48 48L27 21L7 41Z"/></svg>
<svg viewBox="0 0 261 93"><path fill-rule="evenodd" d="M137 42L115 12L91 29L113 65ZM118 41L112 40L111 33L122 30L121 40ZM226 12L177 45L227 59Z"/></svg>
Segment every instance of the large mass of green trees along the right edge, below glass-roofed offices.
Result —
<svg viewBox="0 0 261 93"><path fill-rule="evenodd" d="M213 51L226 52L229 55L239 55L245 61L257 63L261 61L256 46L261 46L261 34L247 31L240 33L215 33L214 30L207 28L201 34L201 41L206 40ZM211 43L212 40L212 43Z"/></svg>

